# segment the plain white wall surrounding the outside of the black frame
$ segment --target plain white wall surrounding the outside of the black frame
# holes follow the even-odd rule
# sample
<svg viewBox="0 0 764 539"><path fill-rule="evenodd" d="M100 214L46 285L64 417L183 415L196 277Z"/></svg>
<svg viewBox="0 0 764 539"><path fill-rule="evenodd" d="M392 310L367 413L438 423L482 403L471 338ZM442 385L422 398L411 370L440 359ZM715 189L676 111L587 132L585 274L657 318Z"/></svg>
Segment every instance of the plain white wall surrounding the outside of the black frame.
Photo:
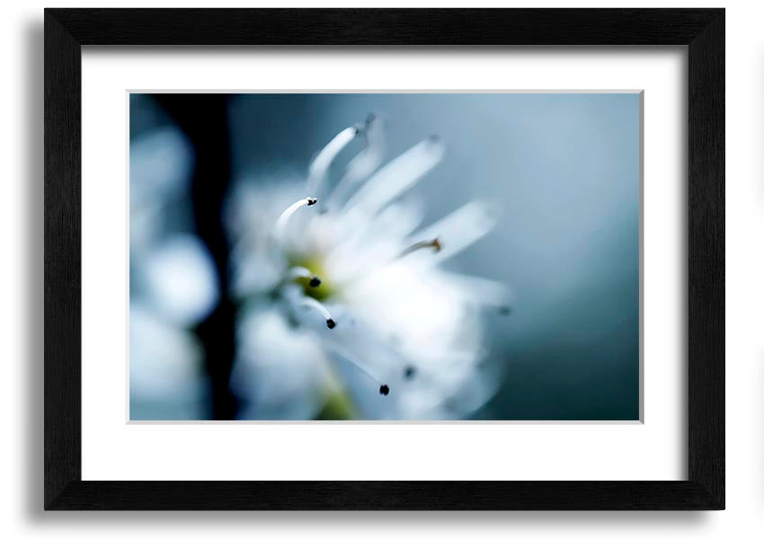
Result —
<svg viewBox="0 0 764 539"><path fill-rule="evenodd" d="M69 5L67 2L51 4ZM105 1L78 3L110 4ZM134 3L139 6L145 3ZM189 6L209 3L164 2ZM226 5L258 5L228 2ZM316 5L317 3L303 3ZM350 5L356 3L338 3ZM364 5L395 5L392 2ZM401 3L404 4L404 3ZM466 4L444 0L421 5ZM528 4L528 3L526 3ZM540 3L534 3L539 5ZM548 5L635 6L636 2ZM675 3L685 7L723 3ZM207 536L253 534L389 537L391 535L534 535L672 537L756 535L764 529L764 8L727 8L727 510L708 514L42 514L42 6L12 2L3 18L3 163L0 278L4 436L2 511L8 536ZM126 5L126 3L114 3ZM133 4L130 4L133 5ZM216 4L219 6L220 4ZM267 4L262 4L267 5ZM298 5L298 4L296 4ZM327 3L328 5L328 3ZM411 4L406 4L411 5ZM469 3L470 7L478 4ZM485 6L522 5L480 2Z"/></svg>

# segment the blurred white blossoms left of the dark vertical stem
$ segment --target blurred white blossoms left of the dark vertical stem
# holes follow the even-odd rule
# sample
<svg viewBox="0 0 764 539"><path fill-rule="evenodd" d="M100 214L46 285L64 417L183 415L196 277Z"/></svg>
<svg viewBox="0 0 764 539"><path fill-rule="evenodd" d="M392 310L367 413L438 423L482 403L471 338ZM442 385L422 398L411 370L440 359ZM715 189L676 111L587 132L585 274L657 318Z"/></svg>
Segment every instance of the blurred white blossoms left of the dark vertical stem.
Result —
<svg viewBox="0 0 764 539"><path fill-rule="evenodd" d="M200 341L191 327L218 303L206 247L192 234L191 144L173 126L130 141L131 420L209 417Z"/></svg>

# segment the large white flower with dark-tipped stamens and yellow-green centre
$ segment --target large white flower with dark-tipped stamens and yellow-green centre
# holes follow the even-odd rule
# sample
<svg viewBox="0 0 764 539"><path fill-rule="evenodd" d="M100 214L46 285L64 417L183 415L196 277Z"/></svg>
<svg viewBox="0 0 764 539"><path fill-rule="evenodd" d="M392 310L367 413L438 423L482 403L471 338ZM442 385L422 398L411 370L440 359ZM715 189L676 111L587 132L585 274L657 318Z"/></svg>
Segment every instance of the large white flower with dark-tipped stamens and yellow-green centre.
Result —
<svg viewBox="0 0 764 539"><path fill-rule="evenodd" d="M441 267L493 219L471 201L421 227L422 206L402 195L443 143L426 138L378 168L380 125L343 129L306 179L233 190L240 419L457 419L495 389L481 368L480 311L506 305L506 289ZM335 157L358 138L365 148L328 189Z"/></svg>

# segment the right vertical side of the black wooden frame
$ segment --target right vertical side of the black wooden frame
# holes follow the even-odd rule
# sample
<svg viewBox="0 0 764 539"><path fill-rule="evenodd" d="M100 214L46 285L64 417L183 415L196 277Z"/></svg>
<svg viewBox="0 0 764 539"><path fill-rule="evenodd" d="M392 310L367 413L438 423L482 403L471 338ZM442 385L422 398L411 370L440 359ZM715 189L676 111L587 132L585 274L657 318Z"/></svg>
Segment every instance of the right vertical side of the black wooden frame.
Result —
<svg viewBox="0 0 764 539"><path fill-rule="evenodd" d="M724 13L688 53L689 479L724 508Z"/></svg>

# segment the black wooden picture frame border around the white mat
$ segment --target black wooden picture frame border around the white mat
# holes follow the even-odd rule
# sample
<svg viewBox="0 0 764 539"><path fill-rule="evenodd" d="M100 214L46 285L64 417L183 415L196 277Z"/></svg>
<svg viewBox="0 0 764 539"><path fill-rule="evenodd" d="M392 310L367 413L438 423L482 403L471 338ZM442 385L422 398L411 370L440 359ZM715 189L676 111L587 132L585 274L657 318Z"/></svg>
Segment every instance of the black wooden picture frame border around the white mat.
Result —
<svg viewBox="0 0 764 539"><path fill-rule="evenodd" d="M688 46L688 481L82 481L84 45ZM723 9L47 9L44 230L45 508L724 508Z"/></svg>

